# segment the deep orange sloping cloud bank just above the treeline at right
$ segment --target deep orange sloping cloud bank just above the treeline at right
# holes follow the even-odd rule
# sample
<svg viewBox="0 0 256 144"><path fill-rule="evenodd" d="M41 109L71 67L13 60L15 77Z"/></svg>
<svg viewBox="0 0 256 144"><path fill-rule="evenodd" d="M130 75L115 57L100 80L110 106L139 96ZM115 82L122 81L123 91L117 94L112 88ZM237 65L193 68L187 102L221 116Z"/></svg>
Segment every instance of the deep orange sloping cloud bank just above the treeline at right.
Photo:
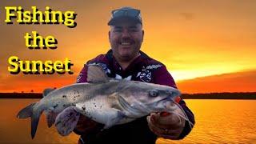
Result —
<svg viewBox="0 0 256 144"><path fill-rule="evenodd" d="M256 91L256 70L194 78L178 82L177 85L182 93L189 94L254 92Z"/></svg>

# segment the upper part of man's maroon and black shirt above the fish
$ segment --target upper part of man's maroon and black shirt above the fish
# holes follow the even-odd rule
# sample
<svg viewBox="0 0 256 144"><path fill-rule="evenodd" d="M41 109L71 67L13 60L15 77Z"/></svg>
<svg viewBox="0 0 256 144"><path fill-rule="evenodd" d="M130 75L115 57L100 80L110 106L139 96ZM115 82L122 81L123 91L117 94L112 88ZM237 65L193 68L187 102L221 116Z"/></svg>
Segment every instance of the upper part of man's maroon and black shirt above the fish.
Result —
<svg viewBox="0 0 256 144"><path fill-rule="evenodd" d="M89 65L102 66L102 69L105 70L110 78L126 78L127 80L150 82L177 88L174 78L172 78L170 73L166 70L166 66L142 52L138 58L135 58L134 61L131 62L126 70L122 70L122 67L112 56L111 51L107 54L98 55L98 57L85 64L78 76L78 83L86 82L87 67Z"/></svg>

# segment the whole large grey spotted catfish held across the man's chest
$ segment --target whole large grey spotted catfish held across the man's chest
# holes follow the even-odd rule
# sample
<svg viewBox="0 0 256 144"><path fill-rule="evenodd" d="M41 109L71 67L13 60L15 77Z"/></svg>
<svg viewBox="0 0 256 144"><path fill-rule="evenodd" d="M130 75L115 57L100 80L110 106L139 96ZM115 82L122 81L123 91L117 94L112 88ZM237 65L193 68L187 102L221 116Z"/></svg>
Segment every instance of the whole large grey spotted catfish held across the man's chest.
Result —
<svg viewBox="0 0 256 144"><path fill-rule="evenodd" d="M60 134L68 135L80 114L104 124L107 129L153 112L172 112L180 108L174 104L174 99L180 95L179 90L170 86L108 78L101 67L89 66L86 83L46 89L39 102L20 110L17 117L31 118L32 138L42 112L46 112L49 127L55 123ZM64 113L69 110L77 113Z"/></svg>

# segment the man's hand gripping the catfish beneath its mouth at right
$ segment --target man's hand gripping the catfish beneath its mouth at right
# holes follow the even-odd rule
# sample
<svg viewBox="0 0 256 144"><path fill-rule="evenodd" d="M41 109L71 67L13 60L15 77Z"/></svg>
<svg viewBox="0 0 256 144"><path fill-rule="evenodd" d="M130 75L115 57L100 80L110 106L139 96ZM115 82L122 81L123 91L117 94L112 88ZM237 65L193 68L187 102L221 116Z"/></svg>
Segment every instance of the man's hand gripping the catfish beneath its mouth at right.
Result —
<svg viewBox="0 0 256 144"><path fill-rule="evenodd" d="M174 113L184 116L180 109L174 110ZM185 126L183 118L180 118L177 114L166 112L150 114L146 119L150 130L162 138L178 139Z"/></svg>

